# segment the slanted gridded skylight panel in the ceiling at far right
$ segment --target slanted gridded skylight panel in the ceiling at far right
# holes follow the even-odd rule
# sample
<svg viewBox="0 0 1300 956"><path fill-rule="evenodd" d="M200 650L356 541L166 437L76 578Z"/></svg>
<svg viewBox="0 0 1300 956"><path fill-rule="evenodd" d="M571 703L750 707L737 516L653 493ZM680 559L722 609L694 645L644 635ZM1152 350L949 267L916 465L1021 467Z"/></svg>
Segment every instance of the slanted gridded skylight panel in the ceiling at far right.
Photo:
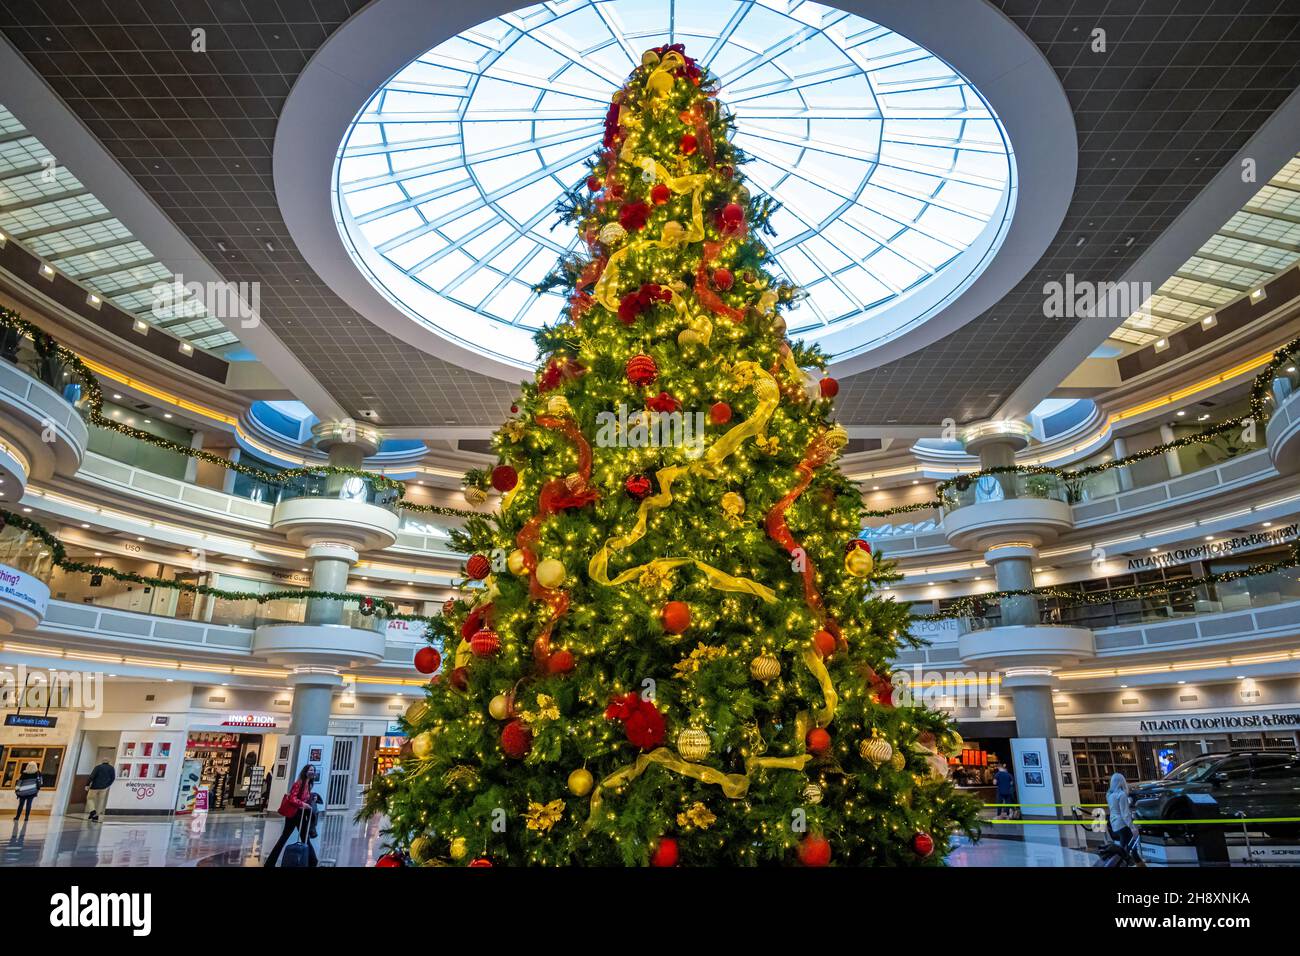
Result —
<svg viewBox="0 0 1300 956"><path fill-rule="evenodd" d="M1144 347L1200 321L1300 261L1300 156L1260 187L1113 339Z"/></svg>

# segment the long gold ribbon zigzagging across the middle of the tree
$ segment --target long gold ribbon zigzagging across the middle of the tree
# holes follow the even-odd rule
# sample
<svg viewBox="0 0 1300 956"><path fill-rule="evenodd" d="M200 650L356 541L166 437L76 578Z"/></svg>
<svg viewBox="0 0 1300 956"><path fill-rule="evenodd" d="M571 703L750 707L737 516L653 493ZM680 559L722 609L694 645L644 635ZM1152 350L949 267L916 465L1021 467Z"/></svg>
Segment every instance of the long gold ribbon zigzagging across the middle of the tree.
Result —
<svg viewBox="0 0 1300 956"><path fill-rule="evenodd" d="M766 434L767 423L771 420L772 412L776 411L776 405L780 401L780 389L776 385L776 380L763 371L763 368L755 362L737 363L732 373L737 382L753 384L754 393L758 395L758 407L754 410L754 414L745 421L737 424L734 428L728 429L727 434L715 441L698 462L692 462L690 464L671 464L667 468L660 468L655 472L655 477L659 480L659 493L653 494L641 502L641 506L637 509L637 520L629 532L606 540L597 553L592 555L592 561L588 562L586 566L586 572L592 580L618 587L620 584L627 584L634 578L640 578L641 574L647 570L671 571L672 568L682 567L685 564L694 564L705 574L706 578L708 578L710 585L719 591L734 591L744 594L754 594L768 604L776 600L776 592L767 585L759 584L750 578L737 578L734 575L729 575L725 571L720 571L716 567L706 564L702 561L696 561L694 558L655 558L651 562L623 571L612 580L610 579L610 558L614 553L630 548L645 537L646 522L650 518L650 512L655 509L668 507L668 505L672 503L673 481L676 481L681 475L689 472L699 473L711 479L718 477L723 462L734 454L746 438Z"/></svg>

